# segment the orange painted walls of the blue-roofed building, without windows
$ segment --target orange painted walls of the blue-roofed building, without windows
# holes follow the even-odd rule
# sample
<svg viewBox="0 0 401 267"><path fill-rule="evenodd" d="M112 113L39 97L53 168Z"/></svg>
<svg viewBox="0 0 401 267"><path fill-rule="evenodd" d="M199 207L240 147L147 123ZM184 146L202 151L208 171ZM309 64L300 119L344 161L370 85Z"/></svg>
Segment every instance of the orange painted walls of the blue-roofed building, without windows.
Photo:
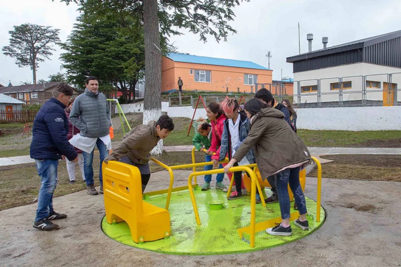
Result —
<svg viewBox="0 0 401 267"><path fill-rule="evenodd" d="M190 74L190 70L209 70L211 72L211 82L195 82L195 71ZM182 90L226 92L228 88L228 92L237 92L237 88L239 88L241 93L250 93L251 86L254 91L255 85L245 85L244 74L257 75L259 84L271 84L272 81L272 70L174 62L163 57L162 92L178 90L178 77L181 77L183 82Z"/></svg>

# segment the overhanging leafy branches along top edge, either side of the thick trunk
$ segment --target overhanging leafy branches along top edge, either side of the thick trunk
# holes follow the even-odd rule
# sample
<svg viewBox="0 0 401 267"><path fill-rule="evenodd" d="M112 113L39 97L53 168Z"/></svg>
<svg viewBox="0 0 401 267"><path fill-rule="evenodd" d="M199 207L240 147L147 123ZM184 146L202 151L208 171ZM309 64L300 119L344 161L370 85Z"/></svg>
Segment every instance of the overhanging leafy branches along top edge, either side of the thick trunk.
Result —
<svg viewBox="0 0 401 267"><path fill-rule="evenodd" d="M53 0L54 1L54 0ZM67 4L75 2L84 6L88 0L60 0ZM101 14L103 10L114 10L124 21L129 15L143 21L143 0L103 0L96 1L93 10ZM187 29L198 34L204 42L207 36L217 41L226 40L229 33L236 33L228 22L235 18L233 8L249 0L159 0L158 17L160 32L168 38L181 34L180 29Z"/></svg>

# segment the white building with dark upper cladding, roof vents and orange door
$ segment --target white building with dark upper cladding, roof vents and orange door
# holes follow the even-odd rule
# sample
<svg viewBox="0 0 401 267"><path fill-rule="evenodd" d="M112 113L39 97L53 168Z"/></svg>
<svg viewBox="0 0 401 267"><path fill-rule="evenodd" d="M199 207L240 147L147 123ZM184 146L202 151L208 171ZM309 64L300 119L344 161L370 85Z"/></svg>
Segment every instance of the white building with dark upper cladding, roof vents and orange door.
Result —
<svg viewBox="0 0 401 267"><path fill-rule="evenodd" d="M293 64L294 102L300 107L401 104L401 30L291 56L287 62Z"/></svg>

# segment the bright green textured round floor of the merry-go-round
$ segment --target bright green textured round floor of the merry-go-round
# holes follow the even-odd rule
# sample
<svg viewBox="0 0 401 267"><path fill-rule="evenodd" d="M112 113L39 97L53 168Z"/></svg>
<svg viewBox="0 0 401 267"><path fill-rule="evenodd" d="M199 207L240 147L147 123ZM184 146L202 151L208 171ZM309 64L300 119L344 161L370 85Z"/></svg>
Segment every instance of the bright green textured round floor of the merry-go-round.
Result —
<svg viewBox="0 0 401 267"><path fill-rule="evenodd" d="M269 191L266 189L266 192ZM196 225L192 203L188 190L174 192L170 201L171 236L158 241L135 243L125 222L109 224L105 217L101 222L103 232L110 238L140 249L181 255L211 255L244 253L283 245L311 234L325 220L326 214L320 208L320 222L316 222L316 202L306 198L309 220L309 231L303 231L291 222L292 236L278 237L268 235L265 231L255 234L255 247L249 246L249 235L241 239L237 228L249 225L251 217L250 194L241 199L228 201L226 193L212 188L201 191L194 190L196 204L202 225ZM267 192L269 195L269 192ZM166 194L151 196L147 201L158 207L166 205ZM224 209L209 209L209 201L223 201ZM291 212L294 210L291 208ZM256 205L256 222L266 221L280 216L279 203Z"/></svg>

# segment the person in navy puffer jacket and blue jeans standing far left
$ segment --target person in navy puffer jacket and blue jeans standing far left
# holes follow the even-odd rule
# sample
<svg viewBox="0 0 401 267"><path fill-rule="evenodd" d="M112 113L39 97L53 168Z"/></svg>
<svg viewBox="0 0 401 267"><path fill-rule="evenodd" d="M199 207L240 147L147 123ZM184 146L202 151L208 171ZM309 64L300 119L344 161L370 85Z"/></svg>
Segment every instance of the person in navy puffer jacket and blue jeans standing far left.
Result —
<svg viewBox="0 0 401 267"><path fill-rule="evenodd" d="M70 161L78 159L77 152L67 139L69 124L64 112L73 95L73 89L61 83L53 90L52 95L35 117L30 144L30 157L35 159L42 184L33 227L43 231L59 229L59 225L51 220L67 218L67 215L57 213L53 209L59 159L62 155Z"/></svg>

